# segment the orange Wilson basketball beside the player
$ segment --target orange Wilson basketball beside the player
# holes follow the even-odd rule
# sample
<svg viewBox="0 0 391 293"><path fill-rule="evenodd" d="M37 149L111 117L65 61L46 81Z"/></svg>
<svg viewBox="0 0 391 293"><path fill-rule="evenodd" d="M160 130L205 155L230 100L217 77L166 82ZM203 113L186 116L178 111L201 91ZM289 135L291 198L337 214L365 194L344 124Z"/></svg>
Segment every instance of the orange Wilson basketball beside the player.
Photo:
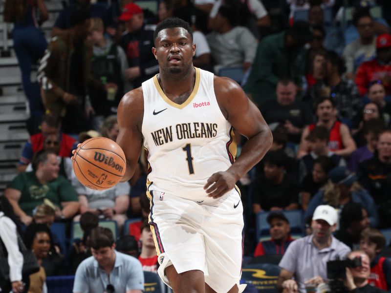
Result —
<svg viewBox="0 0 391 293"><path fill-rule="evenodd" d="M87 188L105 190L115 186L124 176L125 168L124 151L109 138L90 138L74 155L73 170Z"/></svg>

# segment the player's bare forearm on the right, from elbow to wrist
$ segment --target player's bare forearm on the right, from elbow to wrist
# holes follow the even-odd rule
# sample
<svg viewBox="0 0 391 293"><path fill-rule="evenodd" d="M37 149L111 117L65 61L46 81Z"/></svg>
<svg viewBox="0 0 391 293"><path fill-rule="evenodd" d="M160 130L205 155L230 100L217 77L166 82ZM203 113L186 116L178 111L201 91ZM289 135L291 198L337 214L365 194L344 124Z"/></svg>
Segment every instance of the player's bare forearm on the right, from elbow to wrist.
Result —
<svg viewBox="0 0 391 293"><path fill-rule="evenodd" d="M269 127L267 125L262 126L262 130L243 145L240 156L227 171L231 172L239 180L261 161L272 142L273 136Z"/></svg>

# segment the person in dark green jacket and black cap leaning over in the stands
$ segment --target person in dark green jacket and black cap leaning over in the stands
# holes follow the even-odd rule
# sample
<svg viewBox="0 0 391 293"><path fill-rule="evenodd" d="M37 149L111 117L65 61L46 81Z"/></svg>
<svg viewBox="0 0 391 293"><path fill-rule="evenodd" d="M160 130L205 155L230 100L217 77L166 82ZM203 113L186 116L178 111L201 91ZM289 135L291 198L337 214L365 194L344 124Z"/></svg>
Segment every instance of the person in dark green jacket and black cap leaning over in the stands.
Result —
<svg viewBox="0 0 391 293"><path fill-rule="evenodd" d="M296 21L282 33L267 36L259 43L254 63L244 91L256 104L276 99L276 86L280 79L290 78L303 86L306 50L311 41L312 29L306 21Z"/></svg>

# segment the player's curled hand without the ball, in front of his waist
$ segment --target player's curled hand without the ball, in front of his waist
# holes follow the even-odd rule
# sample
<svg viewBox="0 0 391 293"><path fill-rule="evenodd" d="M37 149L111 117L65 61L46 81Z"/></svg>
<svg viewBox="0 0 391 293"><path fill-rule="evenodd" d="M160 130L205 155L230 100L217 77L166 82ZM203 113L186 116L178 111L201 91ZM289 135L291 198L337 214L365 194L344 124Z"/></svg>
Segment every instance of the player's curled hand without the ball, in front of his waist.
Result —
<svg viewBox="0 0 391 293"><path fill-rule="evenodd" d="M204 185L206 193L209 197L219 198L223 196L227 191L235 187L236 179L228 171L217 172L209 177L208 181Z"/></svg>

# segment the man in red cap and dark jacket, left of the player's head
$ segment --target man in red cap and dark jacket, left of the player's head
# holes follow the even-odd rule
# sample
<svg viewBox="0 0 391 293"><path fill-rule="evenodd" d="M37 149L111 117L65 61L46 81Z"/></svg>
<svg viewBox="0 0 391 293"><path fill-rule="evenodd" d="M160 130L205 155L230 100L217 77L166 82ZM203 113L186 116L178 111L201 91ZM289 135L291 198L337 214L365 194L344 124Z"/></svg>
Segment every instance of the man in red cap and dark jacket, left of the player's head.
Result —
<svg viewBox="0 0 391 293"><path fill-rule="evenodd" d="M126 29L120 41L130 67L125 70L125 76L136 88L159 71L157 60L151 54L155 26L144 24L143 10L134 3L124 6L118 20L124 22Z"/></svg>

